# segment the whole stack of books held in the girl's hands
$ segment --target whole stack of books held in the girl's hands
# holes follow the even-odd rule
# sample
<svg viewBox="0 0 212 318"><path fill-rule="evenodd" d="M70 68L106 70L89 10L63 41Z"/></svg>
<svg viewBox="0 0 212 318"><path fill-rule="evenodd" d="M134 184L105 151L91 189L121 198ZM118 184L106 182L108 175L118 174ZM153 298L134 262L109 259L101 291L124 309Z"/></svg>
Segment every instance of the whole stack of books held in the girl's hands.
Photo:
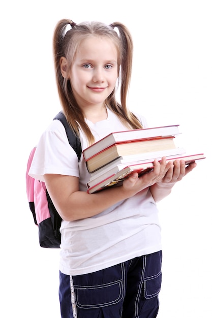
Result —
<svg viewBox="0 0 212 318"><path fill-rule="evenodd" d="M187 155L184 148L175 145L175 137L180 134L178 126L114 132L84 149L82 154L90 173L87 192L117 185L133 172L139 176L150 172L155 158L183 159L186 165L205 158L203 153Z"/></svg>

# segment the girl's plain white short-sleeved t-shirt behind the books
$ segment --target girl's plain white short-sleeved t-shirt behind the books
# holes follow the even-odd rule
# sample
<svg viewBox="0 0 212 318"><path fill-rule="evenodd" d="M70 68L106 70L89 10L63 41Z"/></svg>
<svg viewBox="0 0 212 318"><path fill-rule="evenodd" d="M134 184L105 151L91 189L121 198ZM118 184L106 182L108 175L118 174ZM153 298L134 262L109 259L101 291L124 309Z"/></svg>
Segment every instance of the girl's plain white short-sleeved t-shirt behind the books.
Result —
<svg viewBox="0 0 212 318"><path fill-rule="evenodd" d="M140 119L145 128L145 119ZM95 141L111 132L126 130L109 109L106 120L87 120L87 124ZM80 141L83 150L88 144L82 132ZM80 190L87 190L89 173L83 156L78 162L59 120L53 120L41 136L29 170L29 175L41 181L46 173L79 177ZM93 217L63 220L59 269L67 275L86 274L159 251L160 230L158 210L148 188Z"/></svg>

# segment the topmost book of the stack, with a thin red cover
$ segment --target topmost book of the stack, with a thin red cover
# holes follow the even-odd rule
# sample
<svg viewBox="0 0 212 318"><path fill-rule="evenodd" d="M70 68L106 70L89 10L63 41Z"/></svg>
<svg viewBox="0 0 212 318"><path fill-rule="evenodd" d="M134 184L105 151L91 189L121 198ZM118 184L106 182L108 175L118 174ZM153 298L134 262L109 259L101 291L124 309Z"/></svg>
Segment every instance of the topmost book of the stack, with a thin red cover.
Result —
<svg viewBox="0 0 212 318"><path fill-rule="evenodd" d="M154 128L144 128L144 129L136 129L136 130L128 130L121 132L113 132L101 140L97 141L93 145L90 145L86 149L82 151L85 161L88 160L89 157L92 157L95 153L104 150L105 148L117 144L124 143L129 140L136 141L140 139L148 139L148 138L156 138L156 137L173 137L179 135L178 124L176 125L168 125L168 126L159 126Z"/></svg>

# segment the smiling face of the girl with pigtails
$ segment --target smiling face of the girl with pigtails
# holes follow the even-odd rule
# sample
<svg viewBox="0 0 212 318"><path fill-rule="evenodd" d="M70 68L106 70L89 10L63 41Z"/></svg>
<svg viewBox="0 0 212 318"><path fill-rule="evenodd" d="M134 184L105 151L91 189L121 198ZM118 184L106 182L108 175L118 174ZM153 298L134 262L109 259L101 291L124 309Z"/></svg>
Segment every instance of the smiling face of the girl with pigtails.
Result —
<svg viewBox="0 0 212 318"><path fill-rule="evenodd" d="M118 77L117 49L113 42L94 36L83 40L67 77L80 108L102 107Z"/></svg>

